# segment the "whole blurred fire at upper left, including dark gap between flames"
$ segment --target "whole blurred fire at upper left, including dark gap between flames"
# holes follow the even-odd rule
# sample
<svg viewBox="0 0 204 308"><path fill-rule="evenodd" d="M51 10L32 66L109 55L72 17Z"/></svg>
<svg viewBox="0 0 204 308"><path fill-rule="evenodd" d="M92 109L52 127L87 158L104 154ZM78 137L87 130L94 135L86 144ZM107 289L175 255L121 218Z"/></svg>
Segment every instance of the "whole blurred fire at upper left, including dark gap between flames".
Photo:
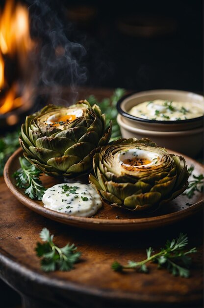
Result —
<svg viewBox="0 0 204 308"><path fill-rule="evenodd" d="M27 7L7 0L0 12L0 124L16 124L31 107L34 46Z"/></svg>

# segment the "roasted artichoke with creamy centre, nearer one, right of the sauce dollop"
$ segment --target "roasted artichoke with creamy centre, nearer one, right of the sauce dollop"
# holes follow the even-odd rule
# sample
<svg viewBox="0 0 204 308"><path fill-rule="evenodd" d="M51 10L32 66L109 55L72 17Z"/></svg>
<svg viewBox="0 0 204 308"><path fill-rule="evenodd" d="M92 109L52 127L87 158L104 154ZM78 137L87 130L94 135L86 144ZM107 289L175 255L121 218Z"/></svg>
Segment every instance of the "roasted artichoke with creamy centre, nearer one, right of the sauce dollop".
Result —
<svg viewBox="0 0 204 308"><path fill-rule="evenodd" d="M89 182L113 206L140 211L162 205L188 186L185 159L149 139L120 139L94 155Z"/></svg>

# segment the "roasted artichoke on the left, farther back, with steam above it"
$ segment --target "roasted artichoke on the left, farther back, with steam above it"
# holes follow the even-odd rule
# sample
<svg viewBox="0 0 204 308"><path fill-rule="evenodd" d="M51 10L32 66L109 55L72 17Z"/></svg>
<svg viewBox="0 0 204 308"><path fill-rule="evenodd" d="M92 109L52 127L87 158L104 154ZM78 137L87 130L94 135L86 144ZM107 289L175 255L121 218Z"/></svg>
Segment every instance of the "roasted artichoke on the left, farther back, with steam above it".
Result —
<svg viewBox="0 0 204 308"><path fill-rule="evenodd" d="M55 177L73 178L92 168L94 154L111 136L101 109L82 100L70 107L48 105L26 117L20 145L26 159Z"/></svg>

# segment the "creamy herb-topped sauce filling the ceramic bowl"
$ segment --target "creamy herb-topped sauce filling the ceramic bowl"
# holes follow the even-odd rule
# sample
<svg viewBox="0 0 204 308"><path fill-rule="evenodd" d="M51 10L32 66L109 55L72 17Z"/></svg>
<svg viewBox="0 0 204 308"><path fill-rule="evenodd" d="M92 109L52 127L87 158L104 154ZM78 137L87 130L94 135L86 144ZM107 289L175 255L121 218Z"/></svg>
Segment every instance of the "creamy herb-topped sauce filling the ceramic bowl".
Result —
<svg viewBox="0 0 204 308"><path fill-rule="evenodd" d="M196 103L156 99L140 103L132 107L128 113L148 120L179 121L202 117L204 109Z"/></svg>

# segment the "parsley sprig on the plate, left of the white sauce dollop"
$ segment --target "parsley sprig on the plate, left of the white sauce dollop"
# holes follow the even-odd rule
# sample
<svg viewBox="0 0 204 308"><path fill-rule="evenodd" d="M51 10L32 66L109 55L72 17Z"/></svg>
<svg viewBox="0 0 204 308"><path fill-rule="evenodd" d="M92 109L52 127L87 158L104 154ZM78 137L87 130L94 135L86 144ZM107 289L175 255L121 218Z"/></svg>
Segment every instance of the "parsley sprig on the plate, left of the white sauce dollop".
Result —
<svg viewBox="0 0 204 308"><path fill-rule="evenodd" d="M42 200L46 188L39 179L41 171L31 165L26 158L19 157L21 168L12 175L19 188L24 188L25 194L31 199Z"/></svg>

